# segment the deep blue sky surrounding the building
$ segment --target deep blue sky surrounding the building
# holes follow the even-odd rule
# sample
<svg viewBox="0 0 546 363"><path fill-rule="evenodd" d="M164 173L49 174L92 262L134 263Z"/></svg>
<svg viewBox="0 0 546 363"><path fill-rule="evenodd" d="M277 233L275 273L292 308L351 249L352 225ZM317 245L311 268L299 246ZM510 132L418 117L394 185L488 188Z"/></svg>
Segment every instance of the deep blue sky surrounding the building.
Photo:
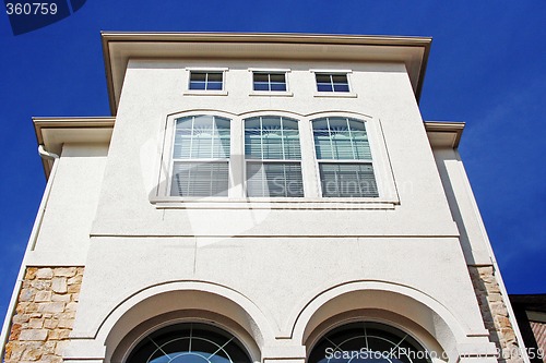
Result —
<svg viewBox="0 0 546 363"><path fill-rule="evenodd" d="M105 1L13 36L0 14L0 316L45 177L33 116L108 116L100 31L434 37L425 120L465 121L460 146L510 293L546 293L546 2Z"/></svg>

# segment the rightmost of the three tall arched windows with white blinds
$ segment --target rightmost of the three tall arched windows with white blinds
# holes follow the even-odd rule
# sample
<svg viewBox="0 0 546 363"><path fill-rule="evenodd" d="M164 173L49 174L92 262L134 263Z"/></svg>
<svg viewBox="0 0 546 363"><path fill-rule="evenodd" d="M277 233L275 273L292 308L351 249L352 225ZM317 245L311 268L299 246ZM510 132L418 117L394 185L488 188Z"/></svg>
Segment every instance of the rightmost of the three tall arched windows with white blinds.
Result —
<svg viewBox="0 0 546 363"><path fill-rule="evenodd" d="M322 196L379 196L365 122L320 118L312 120L312 129Z"/></svg>

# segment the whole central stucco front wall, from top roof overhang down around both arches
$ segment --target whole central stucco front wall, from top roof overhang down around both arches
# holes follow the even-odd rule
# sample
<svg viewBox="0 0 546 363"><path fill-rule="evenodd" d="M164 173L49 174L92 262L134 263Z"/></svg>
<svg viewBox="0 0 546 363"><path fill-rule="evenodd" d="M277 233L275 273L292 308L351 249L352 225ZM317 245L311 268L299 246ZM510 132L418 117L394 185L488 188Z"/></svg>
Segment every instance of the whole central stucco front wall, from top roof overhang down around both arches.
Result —
<svg viewBox="0 0 546 363"><path fill-rule="evenodd" d="M227 68L227 95L185 95L187 68L192 66ZM249 68L290 69L293 96L249 96ZM351 69L357 97L314 97L310 69ZM150 198L155 193L153 181L159 178L168 117L192 110L227 112L238 120L256 111L289 111L305 120L321 111L371 117L370 122L378 123L382 132L375 142L383 143L389 158L377 162L389 167L400 204L379 209L292 210L274 203L259 210L251 210L252 204L214 209L154 205ZM245 225L249 219L252 223ZM202 221L206 221L204 229L195 225ZM435 305L455 336L450 347L442 347L450 354L490 349L459 233L403 64L130 61L91 233L73 331L82 340L69 353L73 361L85 355L85 339L90 343L93 337L112 341L106 327L114 324L110 316L122 315L119 306L134 304L141 294L163 286L183 287L192 281L228 289L244 297L249 304L246 308L254 306L260 312L263 322L256 316L253 319L260 322L256 325L263 336L262 359L305 359L305 350L294 353L304 343L295 331L306 326L297 317L318 316L304 314L306 306L349 282L363 283L363 293L366 283L383 283L389 286L387 290L396 290L377 293L378 300L357 299L351 308L406 314L426 325L434 320L430 306ZM415 297L402 298L404 293ZM405 305L404 299L430 301ZM186 300L171 304L169 308L175 310L204 306L188 305ZM153 315L150 308L143 312ZM237 314L226 314L237 320ZM142 314L140 318L149 316ZM429 328L434 331L435 323ZM427 348L437 349L430 344ZM87 353L87 358L93 356ZM109 353L97 348L94 354Z"/></svg>

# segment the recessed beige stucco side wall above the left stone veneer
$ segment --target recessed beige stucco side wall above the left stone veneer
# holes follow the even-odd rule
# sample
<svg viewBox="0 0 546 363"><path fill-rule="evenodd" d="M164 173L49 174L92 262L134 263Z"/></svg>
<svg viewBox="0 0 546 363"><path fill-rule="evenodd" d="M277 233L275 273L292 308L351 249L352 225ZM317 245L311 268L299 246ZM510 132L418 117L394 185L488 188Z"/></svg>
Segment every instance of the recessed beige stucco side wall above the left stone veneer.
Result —
<svg viewBox="0 0 546 363"><path fill-rule="evenodd" d="M108 145L66 144L34 249L31 266L82 266L87 257Z"/></svg>

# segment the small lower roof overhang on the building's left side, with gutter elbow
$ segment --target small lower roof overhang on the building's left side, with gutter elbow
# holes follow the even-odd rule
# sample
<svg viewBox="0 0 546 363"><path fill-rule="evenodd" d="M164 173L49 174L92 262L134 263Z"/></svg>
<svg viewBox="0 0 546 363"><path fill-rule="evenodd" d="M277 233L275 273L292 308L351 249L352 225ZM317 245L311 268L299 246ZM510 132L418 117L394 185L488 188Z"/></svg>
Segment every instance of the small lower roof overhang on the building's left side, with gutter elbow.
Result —
<svg viewBox="0 0 546 363"><path fill-rule="evenodd" d="M57 155L64 144L109 144L116 118L33 118L38 145ZM52 162L41 159L46 178Z"/></svg>

